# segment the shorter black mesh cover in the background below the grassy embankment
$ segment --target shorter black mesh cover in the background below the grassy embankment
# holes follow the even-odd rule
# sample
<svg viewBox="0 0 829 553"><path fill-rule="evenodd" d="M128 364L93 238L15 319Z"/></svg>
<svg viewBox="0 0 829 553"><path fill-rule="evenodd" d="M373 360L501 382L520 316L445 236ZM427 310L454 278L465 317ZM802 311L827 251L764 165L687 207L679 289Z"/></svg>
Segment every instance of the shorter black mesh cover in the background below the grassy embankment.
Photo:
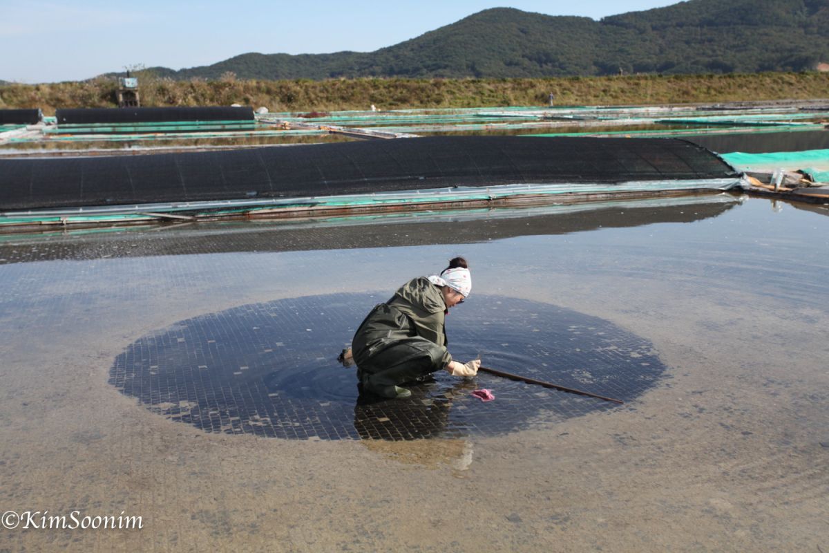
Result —
<svg viewBox="0 0 829 553"><path fill-rule="evenodd" d="M57 124L253 121L251 107L58 109Z"/></svg>

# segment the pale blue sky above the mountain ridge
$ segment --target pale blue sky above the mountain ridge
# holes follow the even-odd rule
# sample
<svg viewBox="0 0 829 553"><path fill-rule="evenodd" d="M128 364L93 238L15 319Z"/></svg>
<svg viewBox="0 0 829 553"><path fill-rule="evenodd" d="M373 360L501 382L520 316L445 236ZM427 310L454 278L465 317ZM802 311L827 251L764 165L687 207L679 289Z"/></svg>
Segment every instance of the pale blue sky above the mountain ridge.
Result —
<svg viewBox="0 0 829 553"><path fill-rule="evenodd" d="M599 19L670 0L184 2L0 0L0 79L82 80L125 65L209 65L250 51L373 51L487 7Z"/></svg>

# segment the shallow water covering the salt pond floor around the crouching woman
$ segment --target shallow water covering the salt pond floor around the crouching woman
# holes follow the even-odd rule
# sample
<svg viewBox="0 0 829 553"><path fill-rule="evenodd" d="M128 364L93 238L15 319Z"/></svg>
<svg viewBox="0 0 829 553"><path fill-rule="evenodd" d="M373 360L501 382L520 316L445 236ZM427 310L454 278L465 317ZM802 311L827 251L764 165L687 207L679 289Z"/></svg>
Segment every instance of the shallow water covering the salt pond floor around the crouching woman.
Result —
<svg viewBox="0 0 829 553"><path fill-rule="evenodd" d="M2 511L144 527L0 550L829 551L827 236L727 195L3 236ZM330 350L453 255L450 351L626 404L362 401Z"/></svg>

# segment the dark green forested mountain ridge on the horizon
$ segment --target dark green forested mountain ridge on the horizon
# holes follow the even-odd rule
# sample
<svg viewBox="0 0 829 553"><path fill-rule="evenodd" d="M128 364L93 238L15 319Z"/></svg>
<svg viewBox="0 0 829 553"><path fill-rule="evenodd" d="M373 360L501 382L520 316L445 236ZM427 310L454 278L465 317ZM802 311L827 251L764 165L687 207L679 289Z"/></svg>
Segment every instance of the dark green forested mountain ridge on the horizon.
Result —
<svg viewBox="0 0 829 553"><path fill-rule="evenodd" d="M373 52L249 53L173 79L543 77L618 72L751 73L829 62L829 0L689 0L594 21L487 9Z"/></svg>

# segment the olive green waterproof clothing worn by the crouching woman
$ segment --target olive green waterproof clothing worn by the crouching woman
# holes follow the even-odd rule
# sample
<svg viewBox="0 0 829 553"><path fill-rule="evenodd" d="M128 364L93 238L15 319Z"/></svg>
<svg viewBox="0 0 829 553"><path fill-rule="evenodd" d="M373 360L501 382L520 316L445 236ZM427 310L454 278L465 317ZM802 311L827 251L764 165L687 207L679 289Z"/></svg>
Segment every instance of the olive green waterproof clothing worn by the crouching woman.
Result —
<svg viewBox="0 0 829 553"><path fill-rule="evenodd" d="M425 277L377 304L351 341L363 390L378 392L447 366L452 356L446 351L445 312L443 294Z"/></svg>

